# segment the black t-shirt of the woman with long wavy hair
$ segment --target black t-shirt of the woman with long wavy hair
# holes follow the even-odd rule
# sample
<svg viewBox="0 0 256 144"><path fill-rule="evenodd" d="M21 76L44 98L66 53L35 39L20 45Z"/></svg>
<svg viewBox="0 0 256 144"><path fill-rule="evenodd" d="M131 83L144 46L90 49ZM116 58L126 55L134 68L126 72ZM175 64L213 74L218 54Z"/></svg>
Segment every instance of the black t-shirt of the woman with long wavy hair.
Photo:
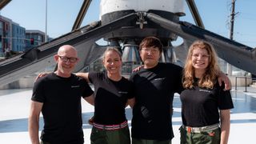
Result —
<svg viewBox="0 0 256 144"><path fill-rule="evenodd" d="M215 84L213 89L194 86L182 91L182 122L185 126L210 126L219 122L218 110L234 108L230 91Z"/></svg>

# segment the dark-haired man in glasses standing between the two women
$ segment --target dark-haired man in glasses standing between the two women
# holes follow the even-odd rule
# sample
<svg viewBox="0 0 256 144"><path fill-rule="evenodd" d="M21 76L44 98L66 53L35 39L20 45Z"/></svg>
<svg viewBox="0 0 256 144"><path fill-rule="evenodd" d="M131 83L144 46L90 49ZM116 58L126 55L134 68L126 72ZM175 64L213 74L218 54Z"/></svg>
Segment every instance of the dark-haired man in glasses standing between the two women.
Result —
<svg viewBox="0 0 256 144"><path fill-rule="evenodd" d="M135 105L133 108L131 136L133 144L170 144L174 138L172 107L174 93L181 93L182 67L172 63L159 63L162 42L147 37L139 45L144 63L141 70L130 76L134 82ZM226 83L226 75L222 74Z"/></svg>

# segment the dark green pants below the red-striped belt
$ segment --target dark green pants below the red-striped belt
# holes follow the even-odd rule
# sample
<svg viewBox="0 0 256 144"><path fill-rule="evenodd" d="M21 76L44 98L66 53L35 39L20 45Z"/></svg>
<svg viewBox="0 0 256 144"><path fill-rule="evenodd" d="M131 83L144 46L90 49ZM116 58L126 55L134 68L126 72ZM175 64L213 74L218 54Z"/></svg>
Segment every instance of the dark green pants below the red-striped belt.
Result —
<svg viewBox="0 0 256 144"><path fill-rule="evenodd" d="M129 127L119 130L101 130L93 126L90 142L91 144L130 144Z"/></svg>

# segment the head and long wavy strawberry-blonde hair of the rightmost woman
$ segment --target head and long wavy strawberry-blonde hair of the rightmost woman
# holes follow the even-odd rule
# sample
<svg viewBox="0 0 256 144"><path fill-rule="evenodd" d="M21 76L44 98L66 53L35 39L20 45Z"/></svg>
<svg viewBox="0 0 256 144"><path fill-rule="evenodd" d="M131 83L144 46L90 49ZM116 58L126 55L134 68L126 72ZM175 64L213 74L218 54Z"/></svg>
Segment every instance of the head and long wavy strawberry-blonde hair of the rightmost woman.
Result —
<svg viewBox="0 0 256 144"><path fill-rule="evenodd" d="M190 45L183 71L183 86L192 88L194 78L201 86L212 87L219 74L218 57L209 42L197 40Z"/></svg>

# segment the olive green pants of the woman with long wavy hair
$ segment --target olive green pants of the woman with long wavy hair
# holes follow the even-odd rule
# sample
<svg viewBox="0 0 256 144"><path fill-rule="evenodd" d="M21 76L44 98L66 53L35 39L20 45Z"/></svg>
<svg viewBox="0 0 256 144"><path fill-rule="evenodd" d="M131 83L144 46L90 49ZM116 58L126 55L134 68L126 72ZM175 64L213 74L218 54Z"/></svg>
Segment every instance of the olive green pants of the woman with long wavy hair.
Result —
<svg viewBox="0 0 256 144"><path fill-rule="evenodd" d="M182 126L179 128L181 133L181 144L219 144L221 129L203 131L201 133L189 133Z"/></svg>

